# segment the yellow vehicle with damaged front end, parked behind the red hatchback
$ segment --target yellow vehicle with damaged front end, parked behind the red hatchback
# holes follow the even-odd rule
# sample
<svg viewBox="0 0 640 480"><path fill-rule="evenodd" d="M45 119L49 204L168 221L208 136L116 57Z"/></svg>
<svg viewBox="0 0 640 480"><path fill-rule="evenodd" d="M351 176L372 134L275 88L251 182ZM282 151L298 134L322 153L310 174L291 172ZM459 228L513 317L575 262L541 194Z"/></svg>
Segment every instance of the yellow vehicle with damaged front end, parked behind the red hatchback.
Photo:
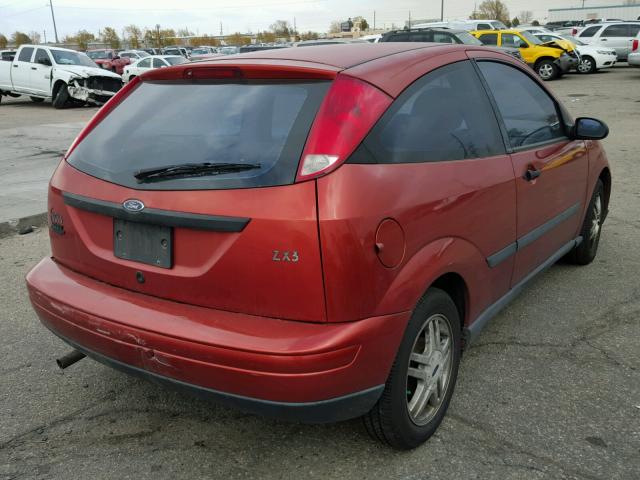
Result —
<svg viewBox="0 0 640 480"><path fill-rule="evenodd" d="M524 61L543 80L554 80L576 68L580 59L571 42L542 42L529 32L518 30L476 30L471 32L485 45L520 49Z"/></svg>

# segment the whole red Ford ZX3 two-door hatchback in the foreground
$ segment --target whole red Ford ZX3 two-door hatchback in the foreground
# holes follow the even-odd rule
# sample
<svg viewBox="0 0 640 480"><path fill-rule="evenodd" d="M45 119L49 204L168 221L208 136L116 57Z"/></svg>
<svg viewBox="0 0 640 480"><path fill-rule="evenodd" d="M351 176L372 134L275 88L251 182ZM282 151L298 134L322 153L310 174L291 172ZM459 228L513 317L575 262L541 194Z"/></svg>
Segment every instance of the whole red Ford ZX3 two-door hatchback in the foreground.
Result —
<svg viewBox="0 0 640 480"><path fill-rule="evenodd" d="M593 260L598 120L475 46L284 49L150 71L87 125L28 275L76 353L254 412L433 434L461 350Z"/></svg>

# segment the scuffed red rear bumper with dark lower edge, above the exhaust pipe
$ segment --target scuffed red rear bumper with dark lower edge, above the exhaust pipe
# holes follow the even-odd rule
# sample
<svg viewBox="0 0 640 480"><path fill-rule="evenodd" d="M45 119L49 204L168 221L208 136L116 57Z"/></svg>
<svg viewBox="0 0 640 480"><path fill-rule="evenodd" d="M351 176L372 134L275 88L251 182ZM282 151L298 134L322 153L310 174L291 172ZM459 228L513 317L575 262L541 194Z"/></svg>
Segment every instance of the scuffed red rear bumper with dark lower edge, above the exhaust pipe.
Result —
<svg viewBox="0 0 640 480"><path fill-rule="evenodd" d="M243 315L124 290L51 259L27 286L42 323L95 360L307 422L357 417L375 404L410 315L340 324Z"/></svg>

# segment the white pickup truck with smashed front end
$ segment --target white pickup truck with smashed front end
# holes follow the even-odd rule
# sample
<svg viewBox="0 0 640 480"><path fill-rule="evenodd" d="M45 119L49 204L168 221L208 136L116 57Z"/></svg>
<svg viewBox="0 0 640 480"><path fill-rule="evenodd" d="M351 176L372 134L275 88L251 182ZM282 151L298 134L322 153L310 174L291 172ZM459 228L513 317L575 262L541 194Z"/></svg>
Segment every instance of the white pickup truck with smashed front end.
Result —
<svg viewBox="0 0 640 480"><path fill-rule="evenodd" d="M55 108L102 105L120 88L120 75L75 50L22 45L13 60L0 60L0 101L5 95L27 95L34 102L51 99Z"/></svg>

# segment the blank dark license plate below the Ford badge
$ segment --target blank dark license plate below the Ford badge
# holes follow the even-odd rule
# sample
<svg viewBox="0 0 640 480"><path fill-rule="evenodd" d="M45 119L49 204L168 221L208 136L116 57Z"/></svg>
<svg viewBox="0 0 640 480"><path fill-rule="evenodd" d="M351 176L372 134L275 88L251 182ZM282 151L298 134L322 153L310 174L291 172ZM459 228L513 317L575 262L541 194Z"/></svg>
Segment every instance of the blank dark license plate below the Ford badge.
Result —
<svg viewBox="0 0 640 480"><path fill-rule="evenodd" d="M171 268L172 229L161 225L113 219L113 253L118 258Z"/></svg>

